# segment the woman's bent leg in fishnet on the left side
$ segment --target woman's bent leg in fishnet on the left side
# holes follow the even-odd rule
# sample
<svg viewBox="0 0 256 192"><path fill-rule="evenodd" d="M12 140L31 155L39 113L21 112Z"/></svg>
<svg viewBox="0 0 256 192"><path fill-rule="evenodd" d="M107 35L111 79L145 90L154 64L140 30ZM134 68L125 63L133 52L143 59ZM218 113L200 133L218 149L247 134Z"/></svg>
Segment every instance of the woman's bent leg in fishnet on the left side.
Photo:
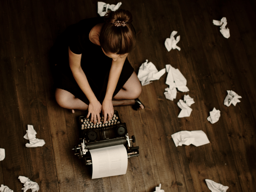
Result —
<svg viewBox="0 0 256 192"><path fill-rule="evenodd" d="M67 109L78 109L78 110L87 110L88 105L85 104L80 99L76 98L75 95L72 93L57 88L55 91L55 99L57 103L60 105L60 107L67 108Z"/></svg>

